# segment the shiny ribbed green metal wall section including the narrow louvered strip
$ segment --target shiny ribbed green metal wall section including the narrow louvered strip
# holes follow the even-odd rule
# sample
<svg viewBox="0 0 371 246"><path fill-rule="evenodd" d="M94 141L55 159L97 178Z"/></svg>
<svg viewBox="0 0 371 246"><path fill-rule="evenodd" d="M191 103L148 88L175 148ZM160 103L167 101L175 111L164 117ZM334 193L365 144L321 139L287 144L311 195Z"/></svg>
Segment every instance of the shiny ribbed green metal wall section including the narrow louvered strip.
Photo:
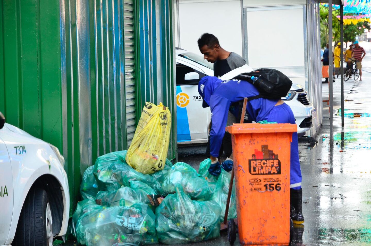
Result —
<svg viewBox="0 0 371 246"><path fill-rule="evenodd" d="M61 4L65 13L62 64L66 62L62 101L67 102L63 155L74 177L70 182L80 182L82 172L98 156L127 149L134 136L134 10L133 0L66 0Z"/></svg>

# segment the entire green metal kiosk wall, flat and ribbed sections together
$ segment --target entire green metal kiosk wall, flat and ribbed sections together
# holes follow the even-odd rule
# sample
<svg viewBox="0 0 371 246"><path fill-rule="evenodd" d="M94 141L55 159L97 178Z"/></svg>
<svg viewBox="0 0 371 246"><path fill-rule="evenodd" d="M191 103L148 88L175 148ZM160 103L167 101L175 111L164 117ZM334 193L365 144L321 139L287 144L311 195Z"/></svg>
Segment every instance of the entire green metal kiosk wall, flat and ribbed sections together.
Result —
<svg viewBox="0 0 371 246"><path fill-rule="evenodd" d="M147 100L173 114L168 157L175 158L172 7L170 0L1 1L0 111L61 150L71 204L98 156L128 148Z"/></svg>

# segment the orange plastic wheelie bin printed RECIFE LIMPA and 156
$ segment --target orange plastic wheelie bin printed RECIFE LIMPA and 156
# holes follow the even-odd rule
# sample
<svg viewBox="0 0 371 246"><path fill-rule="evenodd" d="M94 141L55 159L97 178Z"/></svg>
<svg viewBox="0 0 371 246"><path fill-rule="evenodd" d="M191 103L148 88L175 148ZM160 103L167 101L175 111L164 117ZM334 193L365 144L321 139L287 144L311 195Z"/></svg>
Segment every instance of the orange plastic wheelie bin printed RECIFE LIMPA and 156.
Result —
<svg viewBox="0 0 371 246"><path fill-rule="evenodd" d="M296 124L233 124L241 245L289 245L290 142Z"/></svg>

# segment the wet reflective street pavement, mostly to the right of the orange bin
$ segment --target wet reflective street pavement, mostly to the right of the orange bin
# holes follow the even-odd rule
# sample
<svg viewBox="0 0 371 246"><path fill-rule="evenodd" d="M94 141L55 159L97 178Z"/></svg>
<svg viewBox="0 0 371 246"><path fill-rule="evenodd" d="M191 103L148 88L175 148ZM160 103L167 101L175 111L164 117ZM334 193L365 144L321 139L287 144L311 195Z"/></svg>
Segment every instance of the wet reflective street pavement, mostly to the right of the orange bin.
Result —
<svg viewBox="0 0 371 246"><path fill-rule="evenodd" d="M363 47L366 52L371 50L371 44ZM344 82L344 129L340 77L333 83L334 148L329 145L327 103L323 103L323 126L316 142L305 138L299 142L305 223L295 229L297 238L292 245L371 245L371 57L362 63L363 81L351 78ZM328 97L327 83L322 84L322 94ZM203 151L201 146L180 148L179 161L197 169ZM222 235L193 245L229 242ZM234 245L240 245L238 239Z"/></svg>

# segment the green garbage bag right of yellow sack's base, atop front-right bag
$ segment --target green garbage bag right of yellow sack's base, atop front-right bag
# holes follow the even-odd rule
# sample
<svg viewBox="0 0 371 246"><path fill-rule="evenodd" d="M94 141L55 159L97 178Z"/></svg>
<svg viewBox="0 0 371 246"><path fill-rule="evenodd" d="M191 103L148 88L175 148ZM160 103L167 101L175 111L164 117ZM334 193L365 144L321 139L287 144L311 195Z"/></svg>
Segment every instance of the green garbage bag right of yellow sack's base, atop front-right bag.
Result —
<svg viewBox="0 0 371 246"><path fill-rule="evenodd" d="M176 163L168 171L161 186L161 195L174 193L177 184L180 184L184 192L193 199L209 200L211 197L208 181L184 162Z"/></svg>

